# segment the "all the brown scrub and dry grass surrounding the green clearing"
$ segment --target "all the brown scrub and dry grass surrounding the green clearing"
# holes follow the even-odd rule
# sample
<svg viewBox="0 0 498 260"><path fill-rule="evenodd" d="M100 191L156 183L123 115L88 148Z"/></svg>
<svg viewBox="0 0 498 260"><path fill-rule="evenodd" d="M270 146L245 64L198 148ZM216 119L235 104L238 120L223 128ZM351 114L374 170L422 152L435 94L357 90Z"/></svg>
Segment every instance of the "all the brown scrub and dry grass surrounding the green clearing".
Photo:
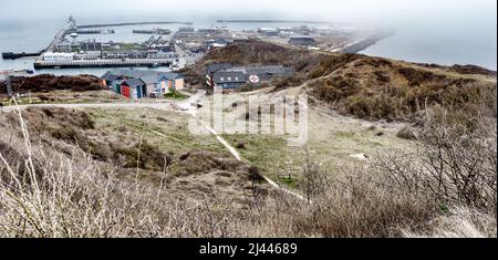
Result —
<svg viewBox="0 0 498 260"><path fill-rule="evenodd" d="M228 155L174 154L128 134L125 125L120 133L97 128L84 111L28 108L0 117L0 235L497 236L496 79L455 74L485 73L475 67L355 54L286 56L294 52L252 42L208 59L281 59L298 71L295 82L308 81L313 95L344 114L415 123L416 131L398 136L418 149L380 153L340 174L308 154L295 186L302 200L269 188L258 168Z"/></svg>

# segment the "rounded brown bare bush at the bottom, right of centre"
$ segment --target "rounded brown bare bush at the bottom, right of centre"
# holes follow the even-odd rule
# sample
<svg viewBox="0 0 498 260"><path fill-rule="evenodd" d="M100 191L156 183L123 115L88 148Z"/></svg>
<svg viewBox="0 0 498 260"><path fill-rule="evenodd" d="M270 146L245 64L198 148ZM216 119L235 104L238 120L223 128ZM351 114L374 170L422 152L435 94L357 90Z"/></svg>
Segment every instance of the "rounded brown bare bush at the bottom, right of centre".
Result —
<svg viewBox="0 0 498 260"><path fill-rule="evenodd" d="M391 193L375 178L334 179L326 193L295 209L290 227L299 236L401 237L401 227L419 230L433 217L427 201L412 194Z"/></svg>

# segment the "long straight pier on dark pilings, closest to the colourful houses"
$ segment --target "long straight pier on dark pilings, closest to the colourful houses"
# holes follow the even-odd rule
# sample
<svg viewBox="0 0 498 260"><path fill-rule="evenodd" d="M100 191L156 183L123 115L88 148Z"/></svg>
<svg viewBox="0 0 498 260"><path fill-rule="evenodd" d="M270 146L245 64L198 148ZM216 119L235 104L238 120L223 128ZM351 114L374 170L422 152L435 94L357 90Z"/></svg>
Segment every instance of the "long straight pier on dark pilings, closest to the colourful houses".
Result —
<svg viewBox="0 0 498 260"><path fill-rule="evenodd" d="M113 66L170 66L175 59L126 59L126 60L72 60L35 61L34 69L75 69L75 67L113 67Z"/></svg>

